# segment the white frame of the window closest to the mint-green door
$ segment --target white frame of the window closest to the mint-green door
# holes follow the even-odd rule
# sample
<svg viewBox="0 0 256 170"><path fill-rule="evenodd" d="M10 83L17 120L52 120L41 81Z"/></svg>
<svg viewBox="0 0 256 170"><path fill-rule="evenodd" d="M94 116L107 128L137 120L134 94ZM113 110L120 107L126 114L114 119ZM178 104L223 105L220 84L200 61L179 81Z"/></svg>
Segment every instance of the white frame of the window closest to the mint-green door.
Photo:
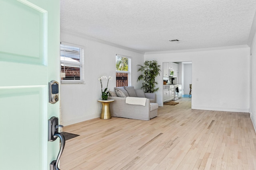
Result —
<svg viewBox="0 0 256 170"><path fill-rule="evenodd" d="M61 64L70 64L70 66L80 66L80 80L60 80L62 84L83 84L84 83L84 47L81 45L76 45L76 44L71 44L71 43L66 43L66 42L60 42L60 48L61 45L66 45L66 46L71 46L75 48L80 49L80 62L70 62L70 61L64 61L61 59L60 55L60 73L62 72L61 70ZM61 53L61 51L60 51Z"/></svg>

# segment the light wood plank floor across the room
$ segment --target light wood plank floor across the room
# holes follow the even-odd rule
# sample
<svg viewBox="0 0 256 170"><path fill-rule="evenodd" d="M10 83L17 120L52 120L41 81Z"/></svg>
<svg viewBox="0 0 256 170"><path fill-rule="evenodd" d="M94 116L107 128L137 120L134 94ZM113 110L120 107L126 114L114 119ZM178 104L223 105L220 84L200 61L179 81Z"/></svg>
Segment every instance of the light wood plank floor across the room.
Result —
<svg viewBox="0 0 256 170"><path fill-rule="evenodd" d="M164 105L150 121L112 117L66 126L61 170L254 170L256 134L249 113Z"/></svg>

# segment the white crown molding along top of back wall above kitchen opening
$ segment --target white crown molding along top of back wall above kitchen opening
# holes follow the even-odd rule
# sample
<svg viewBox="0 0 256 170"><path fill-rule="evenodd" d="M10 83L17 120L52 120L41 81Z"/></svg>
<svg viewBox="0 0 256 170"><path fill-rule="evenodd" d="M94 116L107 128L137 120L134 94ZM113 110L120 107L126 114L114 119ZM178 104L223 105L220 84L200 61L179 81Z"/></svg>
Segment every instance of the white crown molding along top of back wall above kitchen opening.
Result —
<svg viewBox="0 0 256 170"><path fill-rule="evenodd" d="M236 45L236 46L227 46L227 47L212 47L204 49L187 49L187 50L172 50L172 51L152 51L146 52L145 54L162 54L162 53L185 53L185 52L198 52L198 51L211 51L211 50L223 50L223 49L237 49L249 47L248 45Z"/></svg>

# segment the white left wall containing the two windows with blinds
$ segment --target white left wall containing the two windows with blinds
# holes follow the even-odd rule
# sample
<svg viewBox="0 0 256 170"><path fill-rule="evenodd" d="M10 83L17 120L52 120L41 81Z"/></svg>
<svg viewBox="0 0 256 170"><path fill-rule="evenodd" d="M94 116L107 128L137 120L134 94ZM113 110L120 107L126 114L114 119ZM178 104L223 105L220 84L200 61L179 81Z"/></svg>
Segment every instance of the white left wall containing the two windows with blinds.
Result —
<svg viewBox="0 0 256 170"><path fill-rule="evenodd" d="M116 54L132 57L132 86L140 88L142 82L137 83L140 72L137 64L144 63L144 54L122 49L83 35L61 31L60 41L84 46L84 84L61 84L60 103L61 121L63 125L70 125L100 117L101 104L97 100L101 97L100 76L112 76L108 88L114 90L116 86ZM106 82L105 83L106 86ZM106 88L106 87L103 87Z"/></svg>

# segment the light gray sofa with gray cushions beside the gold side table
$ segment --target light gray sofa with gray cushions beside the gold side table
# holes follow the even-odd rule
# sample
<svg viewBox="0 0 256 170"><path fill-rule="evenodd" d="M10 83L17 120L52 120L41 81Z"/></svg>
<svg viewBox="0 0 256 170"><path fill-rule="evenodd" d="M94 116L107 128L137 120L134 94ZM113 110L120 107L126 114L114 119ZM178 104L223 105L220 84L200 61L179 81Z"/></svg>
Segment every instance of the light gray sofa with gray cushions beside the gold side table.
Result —
<svg viewBox="0 0 256 170"><path fill-rule="evenodd" d="M121 95L119 94L120 91L123 92ZM113 117L150 120L157 116L158 104L154 103L156 102L155 93L144 93L143 90L135 90L133 86L128 86L115 88L115 92L110 92L110 94L112 96L108 98L115 100L110 104L110 112ZM127 104L126 97L146 98L145 106Z"/></svg>

